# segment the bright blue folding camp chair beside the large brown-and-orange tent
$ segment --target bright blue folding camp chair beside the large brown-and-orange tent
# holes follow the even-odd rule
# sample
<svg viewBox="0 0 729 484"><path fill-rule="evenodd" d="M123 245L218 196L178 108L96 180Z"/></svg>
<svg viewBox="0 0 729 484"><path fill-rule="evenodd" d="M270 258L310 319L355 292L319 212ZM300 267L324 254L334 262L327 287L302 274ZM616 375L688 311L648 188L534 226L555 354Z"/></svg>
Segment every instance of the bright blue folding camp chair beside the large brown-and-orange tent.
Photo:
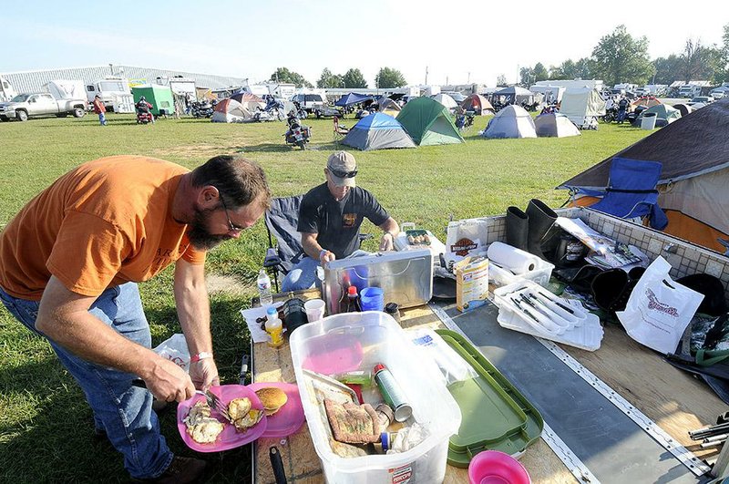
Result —
<svg viewBox="0 0 729 484"><path fill-rule="evenodd" d="M648 216L653 229L663 230L668 217L658 206L656 190L662 167L659 161L613 158L605 194L590 208L622 219Z"/></svg>

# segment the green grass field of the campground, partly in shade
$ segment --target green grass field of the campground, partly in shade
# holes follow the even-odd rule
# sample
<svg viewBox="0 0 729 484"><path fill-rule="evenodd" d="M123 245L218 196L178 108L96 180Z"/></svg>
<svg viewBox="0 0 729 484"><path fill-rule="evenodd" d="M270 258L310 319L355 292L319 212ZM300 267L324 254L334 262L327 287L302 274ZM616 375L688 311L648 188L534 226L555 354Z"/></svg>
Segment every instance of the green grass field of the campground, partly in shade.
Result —
<svg viewBox="0 0 729 484"><path fill-rule="evenodd" d="M307 119L309 149L283 143L284 124L221 125L208 119L162 119L138 126L131 115L108 116L107 127L85 118L33 119L0 124L0 228L58 176L87 160L139 154L189 168L223 153L241 153L266 171L274 195L302 193L323 181L329 154L338 149L331 119ZM477 118L466 143L418 149L355 152L357 182L372 191L396 221L414 221L444 236L450 217L463 219L526 208L531 198L557 207L567 199L553 190L561 181L641 139L648 131L629 125L601 125L579 138L502 139L478 137L488 118ZM353 119L344 119L347 126ZM364 232L376 233L365 222ZM374 250L375 241L365 249ZM212 292L214 351L222 383L237 383L249 339L239 310L254 295L254 279L267 246L262 221L241 239L210 253L209 275L232 284ZM154 345L180 332L172 297L171 272L140 284ZM174 408L160 416L170 447L185 448ZM0 308L0 480L4 482L100 482L128 479L120 455L92 439L91 411L74 380L46 342L31 335L5 307ZM250 448L203 456L211 480L250 479Z"/></svg>

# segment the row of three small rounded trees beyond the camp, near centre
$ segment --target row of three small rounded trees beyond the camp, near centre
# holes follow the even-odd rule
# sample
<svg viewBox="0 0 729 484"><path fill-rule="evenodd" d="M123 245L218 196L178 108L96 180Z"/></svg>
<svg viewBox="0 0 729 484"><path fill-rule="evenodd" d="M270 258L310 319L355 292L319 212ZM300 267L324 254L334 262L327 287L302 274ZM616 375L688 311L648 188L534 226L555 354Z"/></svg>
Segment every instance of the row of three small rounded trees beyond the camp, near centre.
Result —
<svg viewBox="0 0 729 484"><path fill-rule="evenodd" d="M271 75L271 80L295 84L297 88L313 88L313 84L301 74L289 70L287 67L277 68ZM375 76L375 88L400 88L406 86L405 76L393 67L382 67ZM324 67L322 75L316 81L317 88L367 88L362 71L350 68L344 74L333 74Z"/></svg>

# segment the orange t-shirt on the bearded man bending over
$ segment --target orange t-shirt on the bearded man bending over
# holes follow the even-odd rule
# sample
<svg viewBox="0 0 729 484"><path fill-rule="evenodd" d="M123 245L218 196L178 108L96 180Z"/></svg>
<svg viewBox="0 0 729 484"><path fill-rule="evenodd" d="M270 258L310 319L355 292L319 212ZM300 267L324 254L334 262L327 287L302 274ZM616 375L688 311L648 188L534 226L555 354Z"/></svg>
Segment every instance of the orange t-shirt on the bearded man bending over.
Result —
<svg viewBox="0 0 729 484"><path fill-rule="evenodd" d="M139 156L89 161L40 192L0 233L0 286L39 300L51 274L96 296L149 280L180 257L205 263L172 219L180 165Z"/></svg>

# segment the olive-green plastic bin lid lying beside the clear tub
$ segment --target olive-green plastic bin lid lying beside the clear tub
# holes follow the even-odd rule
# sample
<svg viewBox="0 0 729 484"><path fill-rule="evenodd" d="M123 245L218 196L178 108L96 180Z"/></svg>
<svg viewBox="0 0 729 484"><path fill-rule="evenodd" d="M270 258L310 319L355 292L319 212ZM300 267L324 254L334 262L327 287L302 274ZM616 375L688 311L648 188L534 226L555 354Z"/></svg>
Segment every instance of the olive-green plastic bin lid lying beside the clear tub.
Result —
<svg viewBox="0 0 729 484"><path fill-rule="evenodd" d="M520 455L544 427L539 411L461 335L436 330L478 376L448 386L461 410L461 427L448 443L448 464L467 468L482 450Z"/></svg>

